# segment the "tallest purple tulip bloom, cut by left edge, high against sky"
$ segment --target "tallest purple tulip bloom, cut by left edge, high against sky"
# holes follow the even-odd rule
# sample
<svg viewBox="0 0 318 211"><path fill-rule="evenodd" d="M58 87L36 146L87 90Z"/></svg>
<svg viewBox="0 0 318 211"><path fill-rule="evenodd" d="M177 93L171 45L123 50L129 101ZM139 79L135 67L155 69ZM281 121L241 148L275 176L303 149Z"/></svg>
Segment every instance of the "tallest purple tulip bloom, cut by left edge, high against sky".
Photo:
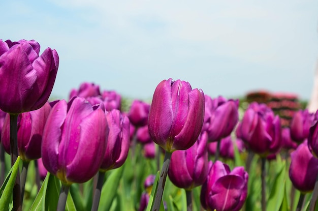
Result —
<svg viewBox="0 0 318 211"><path fill-rule="evenodd" d="M39 56L35 40L0 40L0 108L22 113L41 108L51 95L58 69L56 50Z"/></svg>

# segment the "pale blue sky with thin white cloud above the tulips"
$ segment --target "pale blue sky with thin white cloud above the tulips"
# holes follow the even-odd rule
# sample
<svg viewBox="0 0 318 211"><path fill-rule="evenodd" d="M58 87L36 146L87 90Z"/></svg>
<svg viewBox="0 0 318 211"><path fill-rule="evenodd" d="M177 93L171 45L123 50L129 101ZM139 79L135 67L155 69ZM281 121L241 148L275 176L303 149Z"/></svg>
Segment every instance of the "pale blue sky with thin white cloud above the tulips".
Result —
<svg viewBox="0 0 318 211"><path fill-rule="evenodd" d="M311 95L315 0L5 0L0 7L0 39L57 50L54 97L68 98L88 81L149 99L170 77L212 97L258 89Z"/></svg>

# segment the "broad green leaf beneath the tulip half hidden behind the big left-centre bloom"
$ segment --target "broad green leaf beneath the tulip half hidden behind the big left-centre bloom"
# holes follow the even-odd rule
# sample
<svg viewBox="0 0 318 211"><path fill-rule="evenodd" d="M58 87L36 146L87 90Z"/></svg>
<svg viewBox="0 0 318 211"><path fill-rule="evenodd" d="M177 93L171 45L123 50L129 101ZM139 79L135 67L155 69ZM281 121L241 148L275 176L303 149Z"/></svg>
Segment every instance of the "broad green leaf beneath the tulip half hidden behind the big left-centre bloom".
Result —
<svg viewBox="0 0 318 211"><path fill-rule="evenodd" d="M123 166L112 171L113 172L107 178L106 183L103 185L98 210L109 210L114 198L116 197L117 189L123 172Z"/></svg>

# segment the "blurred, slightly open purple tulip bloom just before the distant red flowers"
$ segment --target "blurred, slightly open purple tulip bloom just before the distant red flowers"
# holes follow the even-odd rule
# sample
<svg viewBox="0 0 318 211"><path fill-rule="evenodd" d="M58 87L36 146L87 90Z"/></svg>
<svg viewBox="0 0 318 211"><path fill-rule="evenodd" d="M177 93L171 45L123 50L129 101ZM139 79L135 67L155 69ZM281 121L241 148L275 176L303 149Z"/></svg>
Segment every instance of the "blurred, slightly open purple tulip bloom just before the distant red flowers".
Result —
<svg viewBox="0 0 318 211"><path fill-rule="evenodd" d="M279 116L275 116L265 104L251 103L238 129L241 130L241 139L261 157L275 154L281 147Z"/></svg>

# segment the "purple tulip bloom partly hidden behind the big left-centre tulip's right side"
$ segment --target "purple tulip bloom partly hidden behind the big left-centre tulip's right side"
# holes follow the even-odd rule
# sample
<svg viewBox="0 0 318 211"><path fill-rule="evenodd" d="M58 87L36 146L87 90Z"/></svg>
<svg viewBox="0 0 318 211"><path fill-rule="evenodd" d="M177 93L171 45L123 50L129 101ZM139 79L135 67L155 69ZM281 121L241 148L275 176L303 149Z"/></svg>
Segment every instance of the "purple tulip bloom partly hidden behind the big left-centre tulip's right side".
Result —
<svg viewBox="0 0 318 211"><path fill-rule="evenodd" d="M130 145L130 122L119 110L111 110L106 115L109 134L106 152L100 171L119 168L128 156Z"/></svg>

